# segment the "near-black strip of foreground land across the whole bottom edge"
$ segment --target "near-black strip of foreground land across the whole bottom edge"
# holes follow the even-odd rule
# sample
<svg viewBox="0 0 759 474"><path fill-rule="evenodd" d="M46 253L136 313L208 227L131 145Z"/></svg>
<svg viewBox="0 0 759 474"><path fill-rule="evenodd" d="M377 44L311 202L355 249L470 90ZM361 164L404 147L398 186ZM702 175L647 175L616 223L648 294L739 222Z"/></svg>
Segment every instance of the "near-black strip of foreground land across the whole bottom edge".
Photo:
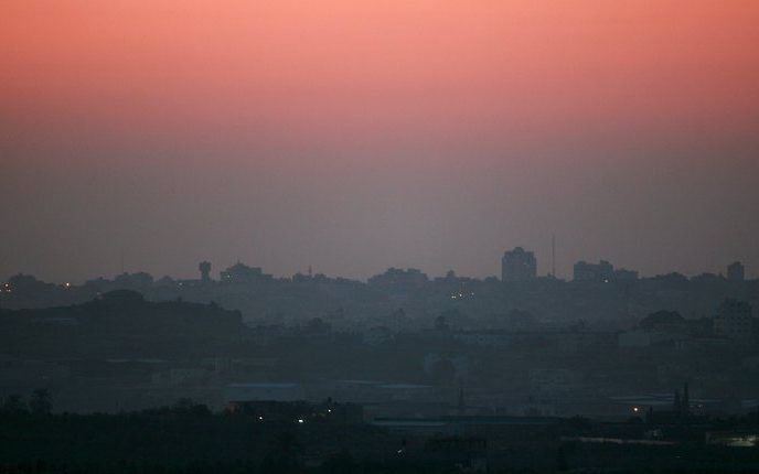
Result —
<svg viewBox="0 0 759 474"><path fill-rule="evenodd" d="M120 414L0 414L0 473L453 473L759 472L759 449L704 442L701 428L677 442L620 443L640 422L613 428L577 419L490 435L398 432L314 413L292 422L213 413L189 400ZM714 427L714 424L713 424ZM756 420L721 421L756 431ZM688 435L689 433L689 435Z"/></svg>

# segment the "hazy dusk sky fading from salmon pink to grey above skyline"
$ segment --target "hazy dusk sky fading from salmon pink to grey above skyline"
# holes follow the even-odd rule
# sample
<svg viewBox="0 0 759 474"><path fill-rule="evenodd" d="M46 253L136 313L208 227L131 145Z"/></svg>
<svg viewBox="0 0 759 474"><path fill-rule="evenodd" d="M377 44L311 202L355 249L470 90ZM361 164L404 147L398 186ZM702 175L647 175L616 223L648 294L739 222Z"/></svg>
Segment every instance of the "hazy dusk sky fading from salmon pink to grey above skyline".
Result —
<svg viewBox="0 0 759 474"><path fill-rule="evenodd" d="M759 277L753 0L2 0L0 279Z"/></svg>

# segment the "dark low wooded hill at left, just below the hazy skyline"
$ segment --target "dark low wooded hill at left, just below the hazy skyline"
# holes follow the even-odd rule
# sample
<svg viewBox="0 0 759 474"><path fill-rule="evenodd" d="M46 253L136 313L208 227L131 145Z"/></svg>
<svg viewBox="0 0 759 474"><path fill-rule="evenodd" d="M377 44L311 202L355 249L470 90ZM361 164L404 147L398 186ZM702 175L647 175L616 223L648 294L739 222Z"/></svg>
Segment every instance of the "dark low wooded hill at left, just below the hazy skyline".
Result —
<svg viewBox="0 0 759 474"><path fill-rule="evenodd" d="M245 330L237 311L182 301L149 302L116 290L94 301L43 310L0 310L6 354L38 357L202 356Z"/></svg>

